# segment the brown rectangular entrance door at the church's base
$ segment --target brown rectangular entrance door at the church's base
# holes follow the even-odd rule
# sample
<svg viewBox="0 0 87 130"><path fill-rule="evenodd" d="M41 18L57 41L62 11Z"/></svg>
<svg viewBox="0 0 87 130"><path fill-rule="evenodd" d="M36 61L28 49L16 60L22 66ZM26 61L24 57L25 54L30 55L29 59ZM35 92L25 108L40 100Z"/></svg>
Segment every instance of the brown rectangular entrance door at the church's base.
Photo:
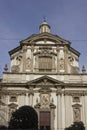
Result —
<svg viewBox="0 0 87 130"><path fill-rule="evenodd" d="M50 130L50 111L40 112L40 130Z"/></svg>

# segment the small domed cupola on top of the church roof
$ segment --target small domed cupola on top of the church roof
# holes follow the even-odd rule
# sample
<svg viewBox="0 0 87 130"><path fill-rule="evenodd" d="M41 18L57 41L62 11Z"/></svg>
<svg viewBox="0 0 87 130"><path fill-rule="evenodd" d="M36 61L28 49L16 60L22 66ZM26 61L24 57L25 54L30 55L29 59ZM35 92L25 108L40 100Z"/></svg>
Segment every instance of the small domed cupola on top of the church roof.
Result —
<svg viewBox="0 0 87 130"><path fill-rule="evenodd" d="M44 32L50 33L50 26L48 25L45 19L40 25L39 30L40 30L40 33L44 33Z"/></svg>

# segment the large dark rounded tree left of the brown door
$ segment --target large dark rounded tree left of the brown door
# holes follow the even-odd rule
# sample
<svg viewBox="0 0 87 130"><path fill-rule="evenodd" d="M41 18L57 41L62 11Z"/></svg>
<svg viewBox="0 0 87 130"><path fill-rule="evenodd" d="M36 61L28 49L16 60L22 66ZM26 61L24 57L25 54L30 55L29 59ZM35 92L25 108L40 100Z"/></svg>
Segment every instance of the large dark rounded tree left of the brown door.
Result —
<svg viewBox="0 0 87 130"><path fill-rule="evenodd" d="M30 106L22 106L13 112L8 129L11 130L37 130L38 129L38 115L34 108Z"/></svg>

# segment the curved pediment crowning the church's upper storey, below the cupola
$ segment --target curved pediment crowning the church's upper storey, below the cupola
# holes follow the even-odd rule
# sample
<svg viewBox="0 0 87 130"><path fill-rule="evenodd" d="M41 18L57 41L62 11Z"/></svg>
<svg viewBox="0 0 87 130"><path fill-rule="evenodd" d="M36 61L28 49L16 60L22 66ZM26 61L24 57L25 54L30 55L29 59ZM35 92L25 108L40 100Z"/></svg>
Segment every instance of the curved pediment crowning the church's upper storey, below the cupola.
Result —
<svg viewBox="0 0 87 130"><path fill-rule="evenodd" d="M31 35L30 37L26 38L25 40L22 40L20 43L21 44L31 44L31 43L35 43L37 41L40 40L50 40L53 41L56 44L70 44L70 41L67 41L57 35L53 35L51 33L41 33L41 34L36 34L36 35Z"/></svg>

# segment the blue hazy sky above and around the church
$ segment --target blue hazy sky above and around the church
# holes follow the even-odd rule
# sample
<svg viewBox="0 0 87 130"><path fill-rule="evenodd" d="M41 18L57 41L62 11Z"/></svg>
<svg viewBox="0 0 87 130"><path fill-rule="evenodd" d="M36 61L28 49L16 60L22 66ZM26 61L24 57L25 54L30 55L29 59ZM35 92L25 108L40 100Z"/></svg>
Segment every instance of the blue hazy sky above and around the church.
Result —
<svg viewBox="0 0 87 130"><path fill-rule="evenodd" d="M80 70L87 69L87 0L0 0L0 76L4 65L10 66L8 52L38 34L44 17L52 34L81 53Z"/></svg>

